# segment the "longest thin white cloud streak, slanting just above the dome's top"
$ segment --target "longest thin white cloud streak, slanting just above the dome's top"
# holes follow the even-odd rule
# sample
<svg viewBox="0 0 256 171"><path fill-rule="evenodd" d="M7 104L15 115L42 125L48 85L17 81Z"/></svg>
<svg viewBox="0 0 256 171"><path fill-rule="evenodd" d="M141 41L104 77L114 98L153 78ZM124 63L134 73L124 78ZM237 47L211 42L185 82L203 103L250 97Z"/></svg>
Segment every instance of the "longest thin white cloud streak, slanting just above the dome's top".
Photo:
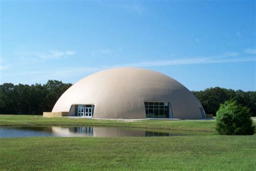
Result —
<svg viewBox="0 0 256 171"><path fill-rule="evenodd" d="M35 75L44 79L48 78L62 78L73 76L74 74L85 74L97 72L104 69L110 69L113 67L153 67L153 66L173 66L173 65L193 65L193 64L214 64L214 63L237 63L244 61L256 61L256 57L236 57L235 53L224 53L213 57L190 57L181 59L169 59L169 60L153 60L153 61L137 61L134 63L117 64L117 65L105 65L101 67L70 67L65 69L56 69L51 71L39 71L39 72L24 72L5 74L4 76L22 76L22 75Z"/></svg>

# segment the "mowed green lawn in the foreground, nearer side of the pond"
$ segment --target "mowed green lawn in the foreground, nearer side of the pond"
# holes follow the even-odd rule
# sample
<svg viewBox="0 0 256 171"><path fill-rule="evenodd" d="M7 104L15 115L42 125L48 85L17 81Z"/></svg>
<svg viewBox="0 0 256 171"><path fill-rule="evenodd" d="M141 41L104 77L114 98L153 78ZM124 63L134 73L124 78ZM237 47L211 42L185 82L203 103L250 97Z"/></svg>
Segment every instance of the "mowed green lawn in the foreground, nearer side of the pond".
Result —
<svg viewBox="0 0 256 171"><path fill-rule="evenodd" d="M256 136L1 138L0 170L256 170Z"/></svg>

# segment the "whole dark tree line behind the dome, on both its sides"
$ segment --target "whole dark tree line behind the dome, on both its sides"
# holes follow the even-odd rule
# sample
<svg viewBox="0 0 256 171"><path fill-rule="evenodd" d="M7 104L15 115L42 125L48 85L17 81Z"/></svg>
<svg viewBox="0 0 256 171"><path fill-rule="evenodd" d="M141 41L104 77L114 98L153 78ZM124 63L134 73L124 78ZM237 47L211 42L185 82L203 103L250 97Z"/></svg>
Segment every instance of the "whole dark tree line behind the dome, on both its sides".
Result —
<svg viewBox="0 0 256 171"><path fill-rule="evenodd" d="M4 83L0 85L0 114L43 114L50 112L56 101L68 88L70 83L49 80L46 84ZM208 114L218 111L220 104L226 100L236 100L247 106L256 116L256 91L231 90L220 87L207 88L204 91L192 91Z"/></svg>

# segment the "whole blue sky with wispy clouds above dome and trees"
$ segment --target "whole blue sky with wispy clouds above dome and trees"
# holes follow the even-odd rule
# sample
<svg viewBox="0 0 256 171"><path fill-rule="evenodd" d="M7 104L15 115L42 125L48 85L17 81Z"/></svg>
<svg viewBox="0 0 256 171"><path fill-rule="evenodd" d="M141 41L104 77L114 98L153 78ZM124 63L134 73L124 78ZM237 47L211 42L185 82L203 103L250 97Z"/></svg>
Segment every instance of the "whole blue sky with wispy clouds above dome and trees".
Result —
<svg viewBox="0 0 256 171"><path fill-rule="evenodd" d="M0 82L76 83L112 67L190 90L256 90L255 1L1 1Z"/></svg>

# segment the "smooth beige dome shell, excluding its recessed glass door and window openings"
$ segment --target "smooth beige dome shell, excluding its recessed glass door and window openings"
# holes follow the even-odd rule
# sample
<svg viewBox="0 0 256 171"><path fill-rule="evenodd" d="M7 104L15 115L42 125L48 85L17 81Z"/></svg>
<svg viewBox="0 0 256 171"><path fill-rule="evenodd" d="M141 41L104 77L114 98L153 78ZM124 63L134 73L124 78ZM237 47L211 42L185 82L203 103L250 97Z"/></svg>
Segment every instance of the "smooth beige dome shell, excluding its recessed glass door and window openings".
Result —
<svg viewBox="0 0 256 171"><path fill-rule="evenodd" d="M170 102L170 118L205 117L198 99L178 81L159 72L130 67L100 71L79 80L63 93L52 112L74 115L75 105L93 104L93 118L144 119L147 101Z"/></svg>

